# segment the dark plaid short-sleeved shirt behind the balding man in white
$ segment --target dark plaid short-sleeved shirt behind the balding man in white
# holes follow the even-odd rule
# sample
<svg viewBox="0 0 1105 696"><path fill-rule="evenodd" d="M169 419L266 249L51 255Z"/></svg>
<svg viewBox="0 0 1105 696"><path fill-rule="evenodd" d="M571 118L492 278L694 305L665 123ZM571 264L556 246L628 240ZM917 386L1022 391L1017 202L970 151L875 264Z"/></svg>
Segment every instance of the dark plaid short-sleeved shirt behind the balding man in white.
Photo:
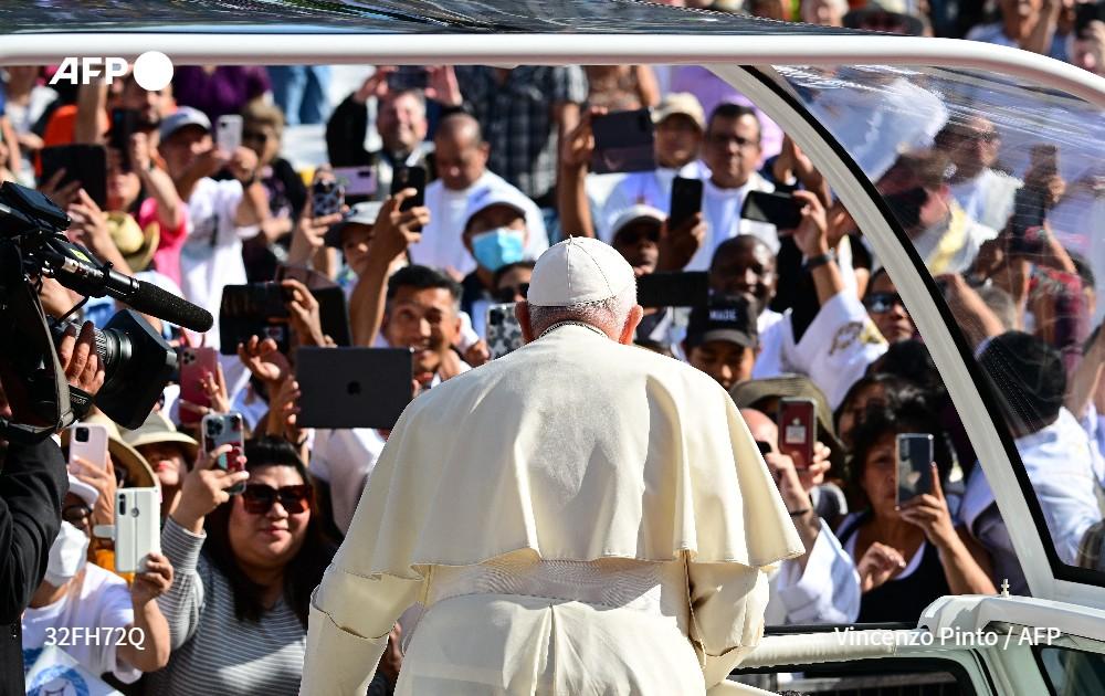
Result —
<svg viewBox="0 0 1105 696"><path fill-rule="evenodd" d="M587 77L578 65L525 65L499 84L495 71L485 65L457 67L461 94L491 145L488 168L540 202L556 186L552 106L581 104Z"/></svg>

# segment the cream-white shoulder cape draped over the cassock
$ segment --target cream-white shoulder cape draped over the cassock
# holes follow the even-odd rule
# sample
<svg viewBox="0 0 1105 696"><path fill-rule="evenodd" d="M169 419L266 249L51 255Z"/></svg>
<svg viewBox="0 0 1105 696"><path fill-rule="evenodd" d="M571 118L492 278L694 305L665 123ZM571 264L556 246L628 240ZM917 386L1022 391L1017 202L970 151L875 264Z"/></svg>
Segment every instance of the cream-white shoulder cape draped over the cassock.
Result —
<svg viewBox="0 0 1105 696"><path fill-rule="evenodd" d="M349 536L336 565L408 579L526 548L750 567L802 552L725 390L576 326L415 399Z"/></svg>

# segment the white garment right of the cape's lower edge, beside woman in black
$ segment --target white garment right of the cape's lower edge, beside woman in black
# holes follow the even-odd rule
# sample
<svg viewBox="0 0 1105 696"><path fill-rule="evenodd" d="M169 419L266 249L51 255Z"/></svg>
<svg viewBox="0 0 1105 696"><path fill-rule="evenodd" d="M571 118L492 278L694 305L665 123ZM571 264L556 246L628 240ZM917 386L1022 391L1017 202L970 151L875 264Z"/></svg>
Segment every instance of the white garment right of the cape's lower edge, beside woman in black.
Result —
<svg viewBox="0 0 1105 696"><path fill-rule="evenodd" d="M785 560L769 587L767 625L854 623L860 615L860 573L823 519L806 569L796 559Z"/></svg>

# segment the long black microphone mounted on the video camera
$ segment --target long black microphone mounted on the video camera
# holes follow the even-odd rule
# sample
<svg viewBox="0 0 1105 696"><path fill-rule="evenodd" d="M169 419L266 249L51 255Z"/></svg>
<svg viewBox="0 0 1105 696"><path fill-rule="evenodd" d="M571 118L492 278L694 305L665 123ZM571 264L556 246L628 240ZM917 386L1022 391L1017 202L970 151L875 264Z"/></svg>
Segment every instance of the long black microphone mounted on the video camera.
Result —
<svg viewBox="0 0 1105 696"><path fill-rule="evenodd" d="M138 312L154 315L193 331L207 331L214 324L211 313L168 293L152 283L139 281L117 271L101 268L94 262L82 261L83 250L64 244L69 253L57 253L51 261L54 274L66 287L95 297L104 295L126 303Z"/></svg>

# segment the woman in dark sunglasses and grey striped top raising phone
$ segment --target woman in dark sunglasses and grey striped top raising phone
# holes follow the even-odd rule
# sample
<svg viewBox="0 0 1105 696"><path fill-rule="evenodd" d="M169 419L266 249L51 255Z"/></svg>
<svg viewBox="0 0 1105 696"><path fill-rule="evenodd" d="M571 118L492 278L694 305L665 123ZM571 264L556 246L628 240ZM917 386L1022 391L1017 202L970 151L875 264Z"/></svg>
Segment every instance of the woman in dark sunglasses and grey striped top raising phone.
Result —
<svg viewBox="0 0 1105 696"><path fill-rule="evenodd" d="M159 603L172 655L149 694L299 690L311 592L334 546L294 447L263 437L244 454L236 473L219 466L230 445L201 455L166 520L161 546L177 577Z"/></svg>

